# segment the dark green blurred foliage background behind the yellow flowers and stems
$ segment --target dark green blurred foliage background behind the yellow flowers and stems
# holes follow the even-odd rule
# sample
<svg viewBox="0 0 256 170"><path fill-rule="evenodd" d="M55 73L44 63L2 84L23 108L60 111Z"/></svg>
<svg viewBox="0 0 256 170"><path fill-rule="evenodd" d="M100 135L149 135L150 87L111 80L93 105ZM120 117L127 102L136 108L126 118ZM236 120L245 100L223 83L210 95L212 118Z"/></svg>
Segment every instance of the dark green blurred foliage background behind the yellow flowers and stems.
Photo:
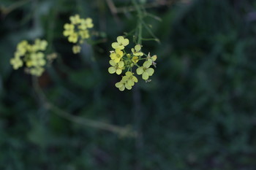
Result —
<svg viewBox="0 0 256 170"><path fill-rule="evenodd" d="M162 22L147 23L161 44L143 42L157 69L124 92L108 74L110 42L135 28L136 15L113 15L107 2L1 0L0 169L256 169L255 1L142 1L159 4L147 11ZM62 31L76 13L93 18L107 41L74 56ZM121 138L42 107L31 76L9 63L21 39L35 38L59 55L39 79L53 104L141 135Z"/></svg>

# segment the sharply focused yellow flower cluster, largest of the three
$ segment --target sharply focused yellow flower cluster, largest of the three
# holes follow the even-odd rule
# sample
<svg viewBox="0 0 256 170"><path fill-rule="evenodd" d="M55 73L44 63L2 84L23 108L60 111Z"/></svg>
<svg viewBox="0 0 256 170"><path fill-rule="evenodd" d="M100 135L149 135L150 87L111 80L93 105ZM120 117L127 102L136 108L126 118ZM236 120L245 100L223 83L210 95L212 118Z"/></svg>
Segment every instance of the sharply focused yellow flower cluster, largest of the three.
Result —
<svg viewBox="0 0 256 170"><path fill-rule="evenodd" d="M122 76L120 82L116 83L116 88L123 91L125 88L128 90L132 89L132 86L135 85L135 82L138 82L138 78L135 77L135 73L132 72L134 66L137 67L136 73L138 75L142 75L143 80L148 80L150 76L154 74L154 69L151 66L156 67L155 61L157 60L157 55L151 56L150 53L145 55L141 52L141 45L135 45L134 48L131 49L131 53L127 53L125 51L125 47L129 45L129 39L125 39L124 36L118 36L117 42L112 43L113 51L110 51L110 67L108 68L108 72L110 74L121 74L124 70L125 75ZM143 58L143 55L146 57ZM143 61L142 66L138 65L139 61Z"/></svg>

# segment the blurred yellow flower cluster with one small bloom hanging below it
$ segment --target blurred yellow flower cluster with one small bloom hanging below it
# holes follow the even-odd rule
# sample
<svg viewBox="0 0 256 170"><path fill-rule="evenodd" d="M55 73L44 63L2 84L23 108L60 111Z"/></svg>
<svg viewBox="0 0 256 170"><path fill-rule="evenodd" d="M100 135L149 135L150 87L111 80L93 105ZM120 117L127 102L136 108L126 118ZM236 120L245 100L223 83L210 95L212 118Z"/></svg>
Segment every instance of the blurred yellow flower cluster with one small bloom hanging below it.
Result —
<svg viewBox="0 0 256 170"><path fill-rule="evenodd" d="M69 42L76 45L72 47L74 54L80 53L81 47L79 44L83 44L85 39L89 39L89 28L93 28L91 18L80 18L80 15L74 15L69 18L70 23L64 24L63 35L67 36Z"/></svg>

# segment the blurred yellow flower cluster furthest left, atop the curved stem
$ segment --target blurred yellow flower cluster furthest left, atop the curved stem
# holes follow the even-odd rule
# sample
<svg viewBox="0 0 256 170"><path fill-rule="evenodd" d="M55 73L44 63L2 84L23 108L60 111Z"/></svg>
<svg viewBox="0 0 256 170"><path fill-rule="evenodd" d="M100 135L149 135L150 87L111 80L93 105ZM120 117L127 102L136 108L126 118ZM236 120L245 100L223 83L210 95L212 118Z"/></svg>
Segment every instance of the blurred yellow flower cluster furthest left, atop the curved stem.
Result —
<svg viewBox="0 0 256 170"><path fill-rule="evenodd" d="M10 59L13 69L19 69L26 65L30 74L41 76L45 71L43 66L46 64L45 54L42 51L45 51L47 46L48 42L41 39L36 39L33 45L26 40L18 43L14 58Z"/></svg>

